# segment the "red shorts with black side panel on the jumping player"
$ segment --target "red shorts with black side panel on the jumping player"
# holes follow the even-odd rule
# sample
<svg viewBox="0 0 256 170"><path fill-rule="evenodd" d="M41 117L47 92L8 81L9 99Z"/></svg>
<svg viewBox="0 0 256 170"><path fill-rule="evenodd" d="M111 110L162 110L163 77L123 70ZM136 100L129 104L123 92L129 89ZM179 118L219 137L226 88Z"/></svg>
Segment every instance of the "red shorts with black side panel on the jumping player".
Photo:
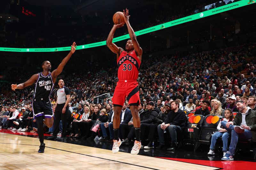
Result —
<svg viewBox="0 0 256 170"><path fill-rule="evenodd" d="M136 80L119 80L116 84L116 89L112 102L115 105L123 107L125 98L130 106L139 106L139 84Z"/></svg>

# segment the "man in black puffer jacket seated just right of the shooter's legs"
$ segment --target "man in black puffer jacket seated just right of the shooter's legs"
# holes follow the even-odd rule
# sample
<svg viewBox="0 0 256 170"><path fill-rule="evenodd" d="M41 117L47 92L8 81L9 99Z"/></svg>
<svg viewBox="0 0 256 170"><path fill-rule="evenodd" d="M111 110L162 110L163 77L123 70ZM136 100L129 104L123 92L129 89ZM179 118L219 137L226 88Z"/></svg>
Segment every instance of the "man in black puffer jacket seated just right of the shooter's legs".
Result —
<svg viewBox="0 0 256 170"><path fill-rule="evenodd" d="M148 110L140 114L140 137L142 137L141 139L143 139L144 137L145 127L147 127L149 124L153 124L155 117L157 117L158 115L157 111L154 110L154 106L155 103L153 101L148 102ZM129 144L134 135L135 128L132 127L126 139L122 141L122 144Z"/></svg>

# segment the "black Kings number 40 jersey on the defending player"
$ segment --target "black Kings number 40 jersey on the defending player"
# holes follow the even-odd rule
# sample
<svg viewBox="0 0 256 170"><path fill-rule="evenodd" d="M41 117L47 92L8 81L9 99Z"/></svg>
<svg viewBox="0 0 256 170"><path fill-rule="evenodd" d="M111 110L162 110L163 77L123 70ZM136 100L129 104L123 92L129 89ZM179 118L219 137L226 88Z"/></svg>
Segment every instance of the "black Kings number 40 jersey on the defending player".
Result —
<svg viewBox="0 0 256 170"><path fill-rule="evenodd" d="M38 73L38 79L36 82L35 98L49 99L53 89L53 81L51 73L46 77L43 76L42 72Z"/></svg>

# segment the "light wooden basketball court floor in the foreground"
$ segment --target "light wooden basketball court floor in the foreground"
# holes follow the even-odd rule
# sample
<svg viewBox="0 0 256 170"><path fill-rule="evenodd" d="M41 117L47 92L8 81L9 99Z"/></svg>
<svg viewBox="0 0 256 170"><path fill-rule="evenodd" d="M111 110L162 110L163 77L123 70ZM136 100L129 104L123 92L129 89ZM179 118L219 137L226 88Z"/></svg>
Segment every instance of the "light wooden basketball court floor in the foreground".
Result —
<svg viewBox="0 0 256 170"><path fill-rule="evenodd" d="M219 169L50 140L44 143L45 152L38 153L39 139L0 133L0 169Z"/></svg>

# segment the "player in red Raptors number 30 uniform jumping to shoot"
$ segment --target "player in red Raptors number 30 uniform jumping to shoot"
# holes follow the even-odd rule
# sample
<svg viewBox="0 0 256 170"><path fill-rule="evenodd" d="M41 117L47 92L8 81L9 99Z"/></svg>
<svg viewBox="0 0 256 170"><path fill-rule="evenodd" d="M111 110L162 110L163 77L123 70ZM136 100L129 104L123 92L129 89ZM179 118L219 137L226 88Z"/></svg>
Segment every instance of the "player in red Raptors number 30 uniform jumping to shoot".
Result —
<svg viewBox="0 0 256 170"><path fill-rule="evenodd" d="M127 97L128 103L130 105L130 110L133 116L133 125L135 127L136 140L134 146L132 147L131 154L138 154L140 151L140 118L138 115L138 105L140 103L139 97L139 85L137 78L139 75L139 68L141 63L142 49L136 39L136 35L129 23L129 10L126 9L124 13L124 21L127 25L129 36L131 40L128 40L125 45L125 50L121 47L117 47L114 44L113 37L117 28L124 26L124 23L116 24L111 29L108 39L108 48L117 55L117 67L118 67L118 82L112 98L114 104L114 118L113 118L113 128L115 138L113 140L112 152L117 153L119 151L119 146L121 145L121 140L118 137L119 126L120 126L120 113L124 100Z"/></svg>

